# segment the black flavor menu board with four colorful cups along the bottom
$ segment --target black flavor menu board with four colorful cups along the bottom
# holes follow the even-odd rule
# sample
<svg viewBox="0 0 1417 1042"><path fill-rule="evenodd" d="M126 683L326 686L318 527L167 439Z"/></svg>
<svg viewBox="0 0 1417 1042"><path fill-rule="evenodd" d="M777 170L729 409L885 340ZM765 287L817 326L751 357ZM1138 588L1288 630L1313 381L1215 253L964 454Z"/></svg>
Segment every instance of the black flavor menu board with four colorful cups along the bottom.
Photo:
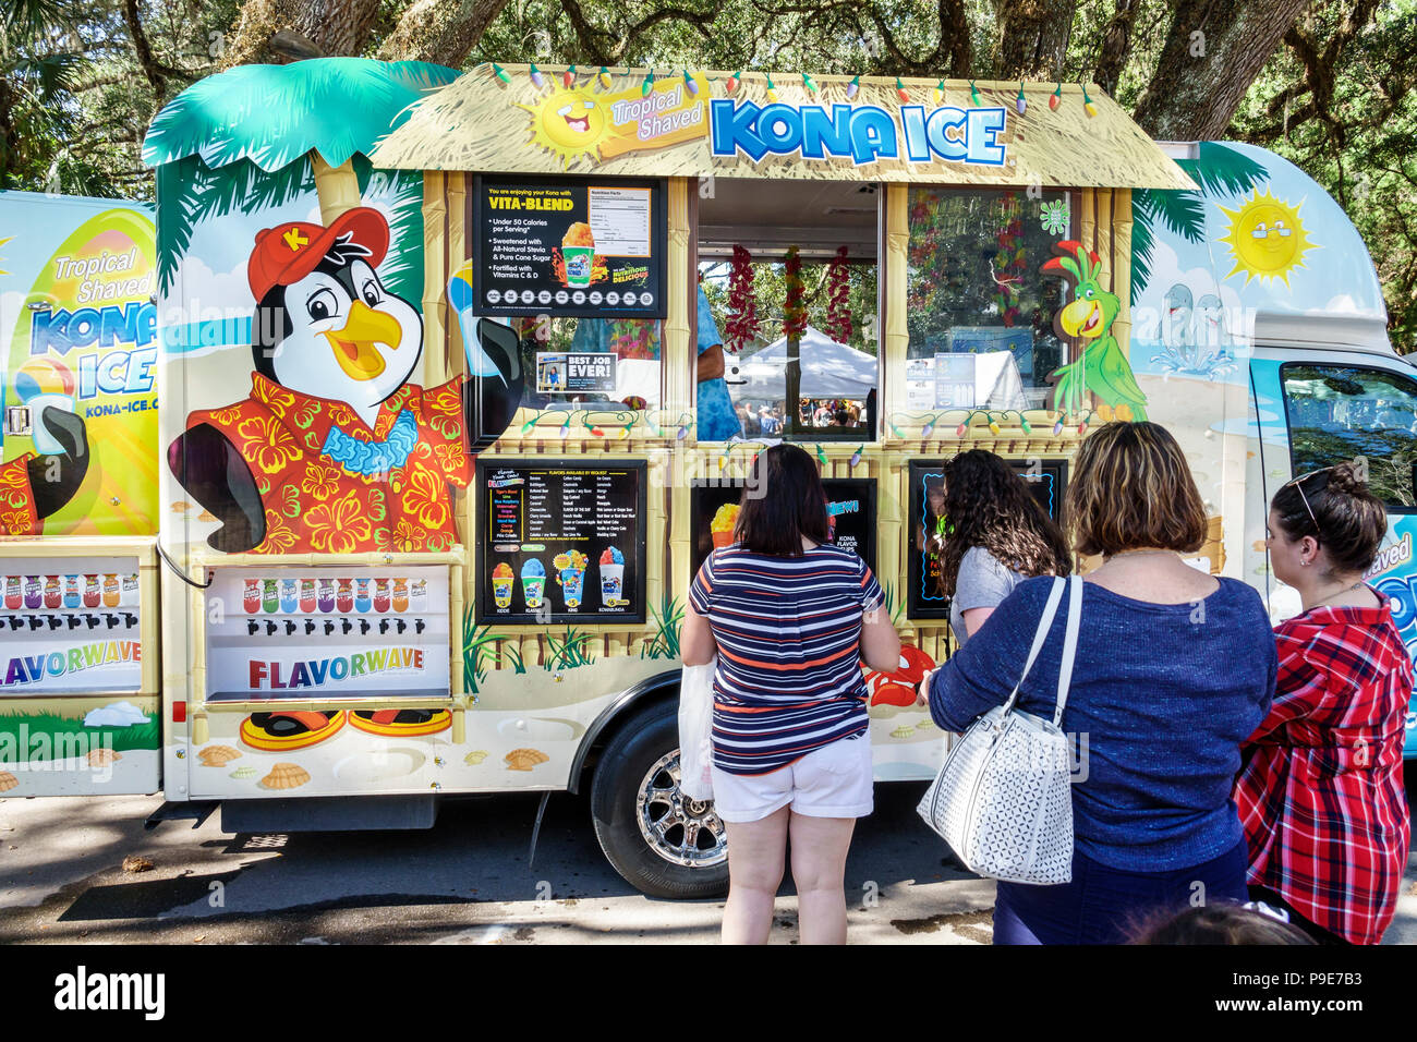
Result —
<svg viewBox="0 0 1417 1042"><path fill-rule="evenodd" d="M645 621L646 465L478 464L478 621Z"/></svg>

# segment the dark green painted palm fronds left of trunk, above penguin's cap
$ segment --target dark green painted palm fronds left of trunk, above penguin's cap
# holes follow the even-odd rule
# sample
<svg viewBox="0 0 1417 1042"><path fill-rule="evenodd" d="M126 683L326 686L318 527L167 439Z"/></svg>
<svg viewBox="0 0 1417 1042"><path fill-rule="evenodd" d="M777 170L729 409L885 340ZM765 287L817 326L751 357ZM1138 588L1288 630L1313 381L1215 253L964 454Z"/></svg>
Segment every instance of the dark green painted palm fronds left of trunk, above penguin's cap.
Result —
<svg viewBox="0 0 1417 1042"><path fill-rule="evenodd" d="M177 265L191 245L191 235L198 224L230 213L249 214L279 207L306 191L315 191L315 174L309 162L290 163L275 173L265 173L248 162L208 170L200 159L187 156L159 169L159 198L166 196L177 200L163 206L163 220L157 223L160 292L171 289ZM415 241L422 241L421 231Z"/></svg>

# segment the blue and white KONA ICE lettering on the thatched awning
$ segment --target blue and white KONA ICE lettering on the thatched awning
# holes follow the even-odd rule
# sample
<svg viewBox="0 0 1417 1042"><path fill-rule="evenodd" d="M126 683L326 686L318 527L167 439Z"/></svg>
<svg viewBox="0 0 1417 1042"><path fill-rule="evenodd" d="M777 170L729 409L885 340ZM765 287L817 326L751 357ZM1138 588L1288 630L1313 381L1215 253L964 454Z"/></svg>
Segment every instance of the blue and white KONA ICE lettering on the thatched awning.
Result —
<svg viewBox="0 0 1417 1042"><path fill-rule="evenodd" d="M710 105L714 156L850 159L856 166L883 159L1003 166L1005 159L998 143L1007 119L1002 108L941 105L927 112L924 105L901 105L891 113L879 105L832 105L828 112L825 105L758 106L727 98Z"/></svg>

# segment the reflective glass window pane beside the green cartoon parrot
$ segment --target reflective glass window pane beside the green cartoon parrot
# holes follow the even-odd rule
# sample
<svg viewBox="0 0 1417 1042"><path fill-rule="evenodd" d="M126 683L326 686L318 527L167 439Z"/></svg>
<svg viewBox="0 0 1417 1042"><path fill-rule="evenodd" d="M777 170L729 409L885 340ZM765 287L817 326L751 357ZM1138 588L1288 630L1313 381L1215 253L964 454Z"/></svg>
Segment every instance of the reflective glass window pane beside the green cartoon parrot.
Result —
<svg viewBox="0 0 1417 1042"><path fill-rule="evenodd" d="M1076 238L1068 191L913 186L907 408L1043 408L1070 359L1053 330L1066 281L1041 267Z"/></svg>

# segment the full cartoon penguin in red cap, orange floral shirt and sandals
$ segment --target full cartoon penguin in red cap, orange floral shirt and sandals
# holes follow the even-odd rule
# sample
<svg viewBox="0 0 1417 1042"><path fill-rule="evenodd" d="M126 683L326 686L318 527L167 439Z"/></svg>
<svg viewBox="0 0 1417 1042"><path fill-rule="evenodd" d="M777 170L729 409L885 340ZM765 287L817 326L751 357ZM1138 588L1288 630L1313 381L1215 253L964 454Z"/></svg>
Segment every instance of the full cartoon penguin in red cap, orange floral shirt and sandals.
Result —
<svg viewBox="0 0 1417 1042"><path fill-rule="evenodd" d="M521 401L517 337L463 325L468 377L424 388L422 318L381 282L388 223L359 207L329 227L292 221L256 234L247 267L256 301L251 394L198 410L169 447L184 489L221 522L227 553L448 550L453 489ZM446 710L354 713L385 734L428 734ZM258 749L323 740L343 713L258 713L242 739Z"/></svg>

